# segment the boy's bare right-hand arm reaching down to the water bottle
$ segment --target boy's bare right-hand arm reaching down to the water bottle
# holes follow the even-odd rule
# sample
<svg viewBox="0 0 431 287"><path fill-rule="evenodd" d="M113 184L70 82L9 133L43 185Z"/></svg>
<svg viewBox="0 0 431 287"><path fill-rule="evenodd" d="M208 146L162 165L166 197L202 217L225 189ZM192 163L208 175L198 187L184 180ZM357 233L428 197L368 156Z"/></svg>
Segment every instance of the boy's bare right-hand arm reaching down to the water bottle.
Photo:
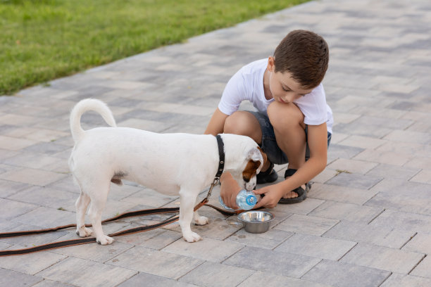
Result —
<svg viewBox="0 0 431 287"><path fill-rule="evenodd" d="M297 172L278 184L266 186L255 191L256 194L265 193L265 197L256 204L256 208L265 206L274 208L278 200L288 191L310 181L313 177L325 170L327 163L327 129L326 123L322 125L308 125L308 148L310 158L302 165Z"/></svg>

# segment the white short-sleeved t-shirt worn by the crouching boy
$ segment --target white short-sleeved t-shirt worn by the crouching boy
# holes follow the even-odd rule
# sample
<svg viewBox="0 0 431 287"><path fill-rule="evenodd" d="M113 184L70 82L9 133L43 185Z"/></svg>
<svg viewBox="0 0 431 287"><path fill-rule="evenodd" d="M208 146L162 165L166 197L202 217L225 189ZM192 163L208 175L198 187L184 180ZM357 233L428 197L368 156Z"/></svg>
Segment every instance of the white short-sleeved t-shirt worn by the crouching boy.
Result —
<svg viewBox="0 0 431 287"><path fill-rule="evenodd" d="M223 96L218 103L218 109L226 115L232 115L238 110L242 101L250 101L253 106L265 115L269 104L274 98L267 100L263 91L263 74L268 65L268 58L256 60L242 67L227 82ZM321 125L326 122L327 131L332 134L334 119L332 110L327 106L323 84L313 89L310 94L301 96L294 101L304 114L306 125Z"/></svg>

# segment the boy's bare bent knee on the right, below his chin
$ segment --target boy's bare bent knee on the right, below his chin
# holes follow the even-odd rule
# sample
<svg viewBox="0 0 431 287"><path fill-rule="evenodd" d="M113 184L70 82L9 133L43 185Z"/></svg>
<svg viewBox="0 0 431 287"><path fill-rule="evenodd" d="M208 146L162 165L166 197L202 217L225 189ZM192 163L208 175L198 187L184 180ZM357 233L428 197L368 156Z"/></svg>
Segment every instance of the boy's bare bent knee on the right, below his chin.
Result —
<svg viewBox="0 0 431 287"><path fill-rule="evenodd" d="M270 103L268 117L275 129L285 129L301 125L305 128L304 115L294 103Z"/></svg>

